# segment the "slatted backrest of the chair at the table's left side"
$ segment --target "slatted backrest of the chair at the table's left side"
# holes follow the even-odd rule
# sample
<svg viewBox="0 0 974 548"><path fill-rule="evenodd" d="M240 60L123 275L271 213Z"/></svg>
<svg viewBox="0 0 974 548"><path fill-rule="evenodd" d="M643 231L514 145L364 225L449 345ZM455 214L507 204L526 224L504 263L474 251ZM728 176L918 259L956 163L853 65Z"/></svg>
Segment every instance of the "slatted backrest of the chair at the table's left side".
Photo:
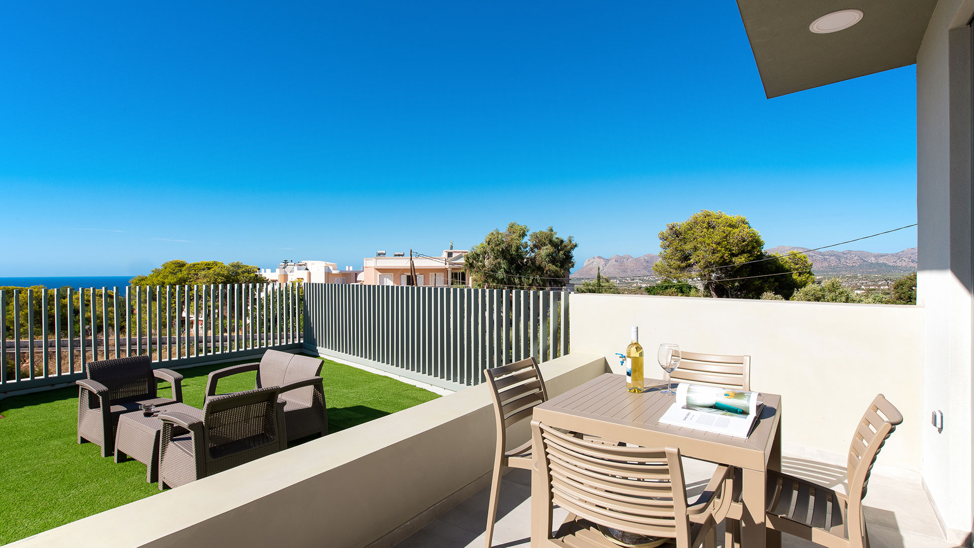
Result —
<svg viewBox="0 0 974 548"><path fill-rule="evenodd" d="M504 450L506 429L531 416L535 406L547 400L542 372L534 358L484 370L494 401L498 448Z"/></svg>

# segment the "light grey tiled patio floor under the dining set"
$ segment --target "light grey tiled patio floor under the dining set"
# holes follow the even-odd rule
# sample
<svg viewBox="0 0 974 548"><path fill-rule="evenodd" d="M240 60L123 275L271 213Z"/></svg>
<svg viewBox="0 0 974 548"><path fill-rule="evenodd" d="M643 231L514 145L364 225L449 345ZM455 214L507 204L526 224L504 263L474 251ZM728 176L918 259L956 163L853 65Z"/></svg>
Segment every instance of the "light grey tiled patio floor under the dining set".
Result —
<svg viewBox="0 0 974 548"><path fill-rule="evenodd" d="M686 460L686 477L691 499L706 484L713 465ZM815 481L823 486L843 490L845 470L809 460L784 457L785 472ZM433 520L397 548L481 548L487 518L490 489L482 489L446 514ZM933 509L923 489L902 480L873 474L865 500L866 523L872 548L951 548L937 525ZM560 524L565 512L555 509L555 523ZM501 486L501 502L494 548L527 547L530 544L531 475L527 470L512 470ZM723 531L718 543L722 544ZM784 535L783 548L812 548L818 545ZM668 545L672 548L672 545Z"/></svg>

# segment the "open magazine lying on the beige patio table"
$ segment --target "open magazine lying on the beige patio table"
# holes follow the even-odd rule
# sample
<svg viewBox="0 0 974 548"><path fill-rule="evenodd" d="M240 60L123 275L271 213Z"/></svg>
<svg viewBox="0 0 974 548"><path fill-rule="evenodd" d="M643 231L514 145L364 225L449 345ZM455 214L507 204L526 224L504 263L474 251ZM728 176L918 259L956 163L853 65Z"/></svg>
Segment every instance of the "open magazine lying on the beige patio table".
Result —
<svg viewBox="0 0 974 548"><path fill-rule="evenodd" d="M676 387L676 403L659 422L746 438L762 406L757 392L681 382Z"/></svg>

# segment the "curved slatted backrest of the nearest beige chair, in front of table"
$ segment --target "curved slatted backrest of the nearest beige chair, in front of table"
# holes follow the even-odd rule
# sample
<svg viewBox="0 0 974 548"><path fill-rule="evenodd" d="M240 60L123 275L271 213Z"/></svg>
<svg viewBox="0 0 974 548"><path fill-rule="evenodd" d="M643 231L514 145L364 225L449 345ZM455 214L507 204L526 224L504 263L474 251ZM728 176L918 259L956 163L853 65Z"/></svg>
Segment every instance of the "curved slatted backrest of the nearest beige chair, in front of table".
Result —
<svg viewBox="0 0 974 548"><path fill-rule="evenodd" d="M537 420L531 428L550 502L596 525L668 536L678 546L688 546L691 528L680 450L607 445Z"/></svg>

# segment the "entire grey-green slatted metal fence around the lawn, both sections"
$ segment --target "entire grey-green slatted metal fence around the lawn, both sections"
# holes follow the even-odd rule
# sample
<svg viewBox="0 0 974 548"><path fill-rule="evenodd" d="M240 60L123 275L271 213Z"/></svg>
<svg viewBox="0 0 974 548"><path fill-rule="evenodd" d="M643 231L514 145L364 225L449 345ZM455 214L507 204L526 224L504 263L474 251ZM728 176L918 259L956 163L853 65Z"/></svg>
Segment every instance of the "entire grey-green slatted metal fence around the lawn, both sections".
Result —
<svg viewBox="0 0 974 548"><path fill-rule="evenodd" d="M72 382L89 362L157 367L267 348L343 359L445 388L533 356L568 354L568 294L340 284L0 291L0 394Z"/></svg>

